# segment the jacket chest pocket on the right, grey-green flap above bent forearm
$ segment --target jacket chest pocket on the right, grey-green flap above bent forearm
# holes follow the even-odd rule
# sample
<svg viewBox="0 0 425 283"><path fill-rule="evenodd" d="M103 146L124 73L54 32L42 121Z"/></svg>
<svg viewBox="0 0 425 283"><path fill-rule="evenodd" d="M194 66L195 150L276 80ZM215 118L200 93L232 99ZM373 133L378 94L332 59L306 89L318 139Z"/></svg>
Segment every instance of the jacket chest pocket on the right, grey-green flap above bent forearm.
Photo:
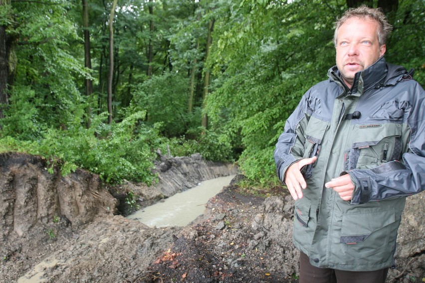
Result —
<svg viewBox="0 0 425 283"><path fill-rule="evenodd" d="M403 146L401 135L401 124L356 126L352 146L346 150L344 169L370 169L399 160Z"/></svg>

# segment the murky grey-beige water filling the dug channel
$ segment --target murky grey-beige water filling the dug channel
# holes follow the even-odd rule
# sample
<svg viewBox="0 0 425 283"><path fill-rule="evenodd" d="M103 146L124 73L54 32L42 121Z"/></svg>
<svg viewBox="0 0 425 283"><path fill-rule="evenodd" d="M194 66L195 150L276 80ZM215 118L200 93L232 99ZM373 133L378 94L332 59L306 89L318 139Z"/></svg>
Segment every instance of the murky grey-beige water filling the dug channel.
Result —
<svg viewBox="0 0 425 283"><path fill-rule="evenodd" d="M127 218L137 219L150 227L186 226L204 213L207 201L235 175L203 181L200 185L177 193L164 202L145 207Z"/></svg>

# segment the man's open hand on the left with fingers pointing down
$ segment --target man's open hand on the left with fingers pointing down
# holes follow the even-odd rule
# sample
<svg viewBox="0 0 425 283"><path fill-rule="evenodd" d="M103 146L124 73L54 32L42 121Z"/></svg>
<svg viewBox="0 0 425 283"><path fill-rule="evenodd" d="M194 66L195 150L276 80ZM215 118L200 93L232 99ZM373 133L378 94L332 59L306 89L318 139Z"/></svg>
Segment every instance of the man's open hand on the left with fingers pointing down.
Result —
<svg viewBox="0 0 425 283"><path fill-rule="evenodd" d="M289 192L293 199L297 200L302 198L302 189L307 187L307 183L304 180L304 176L301 173L301 168L305 165L316 162L317 157L300 159L293 163L286 169L285 184L288 187Z"/></svg>

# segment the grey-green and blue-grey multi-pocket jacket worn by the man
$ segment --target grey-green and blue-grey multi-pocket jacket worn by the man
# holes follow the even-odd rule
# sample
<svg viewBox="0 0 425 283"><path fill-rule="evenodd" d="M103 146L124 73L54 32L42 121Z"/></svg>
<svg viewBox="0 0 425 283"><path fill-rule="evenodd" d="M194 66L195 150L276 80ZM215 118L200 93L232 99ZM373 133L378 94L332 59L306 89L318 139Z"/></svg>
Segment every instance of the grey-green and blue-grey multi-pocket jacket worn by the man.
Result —
<svg viewBox="0 0 425 283"><path fill-rule="evenodd" d="M380 58L351 89L336 67L286 121L274 159L280 180L301 158L307 182L295 202L294 245L316 267L374 271L394 264L406 196L425 189L425 92L413 72ZM325 183L350 174L351 201Z"/></svg>

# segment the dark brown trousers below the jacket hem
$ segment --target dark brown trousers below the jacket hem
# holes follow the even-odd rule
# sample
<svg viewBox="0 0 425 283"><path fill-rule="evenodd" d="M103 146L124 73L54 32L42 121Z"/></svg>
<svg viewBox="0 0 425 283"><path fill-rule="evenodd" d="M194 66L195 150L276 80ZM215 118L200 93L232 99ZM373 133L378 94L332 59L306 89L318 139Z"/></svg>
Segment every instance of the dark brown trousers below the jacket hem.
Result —
<svg viewBox="0 0 425 283"><path fill-rule="evenodd" d="M308 256L300 253L299 283L385 283L388 268L377 271L342 271L318 268L310 264Z"/></svg>

